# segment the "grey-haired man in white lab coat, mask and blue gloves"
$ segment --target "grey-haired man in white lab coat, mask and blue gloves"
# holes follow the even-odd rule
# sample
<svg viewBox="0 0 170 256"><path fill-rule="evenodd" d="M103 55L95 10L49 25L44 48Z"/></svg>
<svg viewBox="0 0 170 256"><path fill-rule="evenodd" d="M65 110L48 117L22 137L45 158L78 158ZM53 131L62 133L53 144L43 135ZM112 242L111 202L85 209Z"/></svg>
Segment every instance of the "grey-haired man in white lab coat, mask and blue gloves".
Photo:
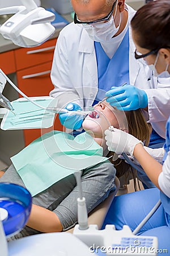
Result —
<svg viewBox="0 0 170 256"><path fill-rule="evenodd" d="M130 20L135 11L125 0L71 0L71 4L74 22L63 28L57 40L50 96L56 97L61 107L69 104L67 109L76 110L94 105L105 92L114 95L114 90L126 89L125 98L118 92L122 108L127 99L126 110L146 109L158 137L165 138L170 89L165 90L145 62L134 57ZM147 26L150 31L150 24ZM125 82L127 85L121 87ZM117 88L111 90L112 86ZM109 102L114 105L112 98ZM82 117L67 114L59 115L59 119L75 130L83 122Z"/></svg>

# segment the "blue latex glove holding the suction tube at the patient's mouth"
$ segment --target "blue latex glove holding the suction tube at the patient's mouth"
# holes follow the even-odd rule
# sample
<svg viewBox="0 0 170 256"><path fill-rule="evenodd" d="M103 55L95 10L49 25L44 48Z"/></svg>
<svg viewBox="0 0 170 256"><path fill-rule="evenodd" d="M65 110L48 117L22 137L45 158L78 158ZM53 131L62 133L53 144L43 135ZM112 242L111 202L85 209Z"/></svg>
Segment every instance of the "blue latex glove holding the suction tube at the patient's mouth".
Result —
<svg viewBox="0 0 170 256"><path fill-rule="evenodd" d="M67 110L82 110L78 104L69 103L66 105ZM82 126L83 115L70 115L69 113L59 114L59 120L66 128L76 130Z"/></svg>

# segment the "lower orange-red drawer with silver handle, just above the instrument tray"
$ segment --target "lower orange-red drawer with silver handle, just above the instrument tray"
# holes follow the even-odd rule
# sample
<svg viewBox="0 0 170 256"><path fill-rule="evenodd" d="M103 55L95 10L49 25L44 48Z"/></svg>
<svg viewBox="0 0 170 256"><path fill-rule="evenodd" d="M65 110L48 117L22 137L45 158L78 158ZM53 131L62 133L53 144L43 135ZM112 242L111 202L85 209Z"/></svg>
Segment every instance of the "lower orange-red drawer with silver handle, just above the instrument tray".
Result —
<svg viewBox="0 0 170 256"><path fill-rule="evenodd" d="M28 97L48 96L50 90L54 88L50 80L50 70L52 62L40 64L16 72L18 88Z"/></svg>

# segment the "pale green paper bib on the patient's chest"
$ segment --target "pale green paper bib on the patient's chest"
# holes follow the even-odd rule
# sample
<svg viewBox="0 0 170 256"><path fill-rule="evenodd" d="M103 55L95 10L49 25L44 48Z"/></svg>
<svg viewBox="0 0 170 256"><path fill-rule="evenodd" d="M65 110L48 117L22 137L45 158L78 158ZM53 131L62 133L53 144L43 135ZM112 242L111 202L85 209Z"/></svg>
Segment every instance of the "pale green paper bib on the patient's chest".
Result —
<svg viewBox="0 0 170 256"><path fill-rule="evenodd" d="M74 138L61 131L42 135L11 158L32 196L76 171L105 160L103 148L88 133Z"/></svg>

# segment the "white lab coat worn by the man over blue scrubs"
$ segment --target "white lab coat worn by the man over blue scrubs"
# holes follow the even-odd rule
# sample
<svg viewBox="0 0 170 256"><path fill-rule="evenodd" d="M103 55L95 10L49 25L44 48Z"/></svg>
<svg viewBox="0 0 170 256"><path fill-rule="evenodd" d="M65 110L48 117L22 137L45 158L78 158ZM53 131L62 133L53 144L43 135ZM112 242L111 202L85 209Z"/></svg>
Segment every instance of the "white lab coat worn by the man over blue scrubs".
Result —
<svg viewBox="0 0 170 256"><path fill-rule="evenodd" d="M130 24L135 11L127 7ZM170 88L165 90L164 86L158 86L148 66L135 60L130 26L129 38L130 84L145 89L148 119L157 133L165 138L165 123L170 113ZM60 32L54 51L51 79L54 89L50 96L58 99L59 106L74 101L81 107L87 107L94 102L98 89L96 53L94 41L82 27L70 23Z"/></svg>

